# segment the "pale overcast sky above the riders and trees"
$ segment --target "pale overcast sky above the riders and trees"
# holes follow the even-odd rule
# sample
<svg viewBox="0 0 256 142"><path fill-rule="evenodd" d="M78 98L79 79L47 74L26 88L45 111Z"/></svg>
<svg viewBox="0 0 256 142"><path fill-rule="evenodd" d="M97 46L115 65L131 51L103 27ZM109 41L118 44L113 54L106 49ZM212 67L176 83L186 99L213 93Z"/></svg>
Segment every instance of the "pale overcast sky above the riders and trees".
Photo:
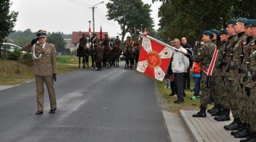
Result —
<svg viewBox="0 0 256 142"><path fill-rule="evenodd" d="M110 36L116 36L120 33L120 27L117 21L108 21L107 7L108 0L11 0L11 10L18 11L15 30L45 29L46 31L63 31L72 33L72 31L88 31L89 23L92 21L93 5L97 5L94 13L95 31L99 31L102 26L103 31L109 32ZM157 16L160 2L151 3L151 0L142 0L143 3L151 4L151 17L155 23L155 29L159 26ZM91 23L92 30L92 23Z"/></svg>

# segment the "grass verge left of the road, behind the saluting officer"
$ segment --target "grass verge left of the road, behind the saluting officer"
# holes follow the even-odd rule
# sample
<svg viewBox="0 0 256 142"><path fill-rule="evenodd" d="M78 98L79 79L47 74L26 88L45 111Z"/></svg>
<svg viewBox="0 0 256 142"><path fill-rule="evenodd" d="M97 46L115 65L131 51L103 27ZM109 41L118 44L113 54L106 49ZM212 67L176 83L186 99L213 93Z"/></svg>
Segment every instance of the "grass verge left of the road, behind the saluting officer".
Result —
<svg viewBox="0 0 256 142"><path fill-rule="evenodd" d="M58 56L58 74L78 69L76 56ZM16 60L0 59L0 85L16 85L34 80L31 66Z"/></svg>

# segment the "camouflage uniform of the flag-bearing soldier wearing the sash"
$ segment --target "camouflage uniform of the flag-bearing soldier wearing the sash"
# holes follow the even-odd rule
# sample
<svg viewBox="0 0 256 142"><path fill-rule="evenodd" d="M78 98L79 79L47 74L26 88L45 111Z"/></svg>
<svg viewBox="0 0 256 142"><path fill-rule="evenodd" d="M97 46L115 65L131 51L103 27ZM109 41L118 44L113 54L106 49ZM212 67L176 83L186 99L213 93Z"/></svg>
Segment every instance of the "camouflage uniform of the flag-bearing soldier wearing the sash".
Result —
<svg viewBox="0 0 256 142"><path fill-rule="evenodd" d="M209 68L210 62L212 60L212 56L215 50L215 44L211 41L205 42L199 49L198 54L192 56L191 60L194 62L200 62L201 66L205 68ZM214 70L212 71L212 75L214 75ZM212 76L212 80L214 80L215 76ZM200 107L206 108L207 104L210 102L210 88L207 88L207 75L202 72L201 76L201 101Z"/></svg>

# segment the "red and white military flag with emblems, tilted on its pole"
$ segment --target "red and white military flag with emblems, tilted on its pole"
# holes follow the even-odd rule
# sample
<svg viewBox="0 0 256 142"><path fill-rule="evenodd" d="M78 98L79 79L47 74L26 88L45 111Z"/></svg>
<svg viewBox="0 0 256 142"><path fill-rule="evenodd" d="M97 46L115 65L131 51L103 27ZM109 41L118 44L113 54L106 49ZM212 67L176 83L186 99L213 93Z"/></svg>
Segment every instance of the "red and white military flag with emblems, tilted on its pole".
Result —
<svg viewBox="0 0 256 142"><path fill-rule="evenodd" d="M137 71L163 81L173 53L172 48L143 36Z"/></svg>

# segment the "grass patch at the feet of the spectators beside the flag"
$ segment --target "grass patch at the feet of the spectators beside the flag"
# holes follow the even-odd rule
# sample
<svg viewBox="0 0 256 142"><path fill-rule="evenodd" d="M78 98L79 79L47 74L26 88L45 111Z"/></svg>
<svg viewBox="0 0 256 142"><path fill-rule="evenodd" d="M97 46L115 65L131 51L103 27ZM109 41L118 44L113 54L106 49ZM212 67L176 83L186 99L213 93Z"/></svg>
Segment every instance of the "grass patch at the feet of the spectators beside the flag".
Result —
<svg viewBox="0 0 256 142"><path fill-rule="evenodd" d="M162 96L162 109L164 111L169 111L172 113L177 113L179 110L198 110L200 106L200 98L198 100L190 100L190 98L194 95L194 91L191 92L190 90L185 90L186 96L184 97L184 103L182 104L175 104L174 100L177 98L174 96L169 96L172 92L171 88L166 89L164 88L165 82L157 82L157 89L159 95ZM194 81L193 78L190 79L190 88L194 88Z"/></svg>

